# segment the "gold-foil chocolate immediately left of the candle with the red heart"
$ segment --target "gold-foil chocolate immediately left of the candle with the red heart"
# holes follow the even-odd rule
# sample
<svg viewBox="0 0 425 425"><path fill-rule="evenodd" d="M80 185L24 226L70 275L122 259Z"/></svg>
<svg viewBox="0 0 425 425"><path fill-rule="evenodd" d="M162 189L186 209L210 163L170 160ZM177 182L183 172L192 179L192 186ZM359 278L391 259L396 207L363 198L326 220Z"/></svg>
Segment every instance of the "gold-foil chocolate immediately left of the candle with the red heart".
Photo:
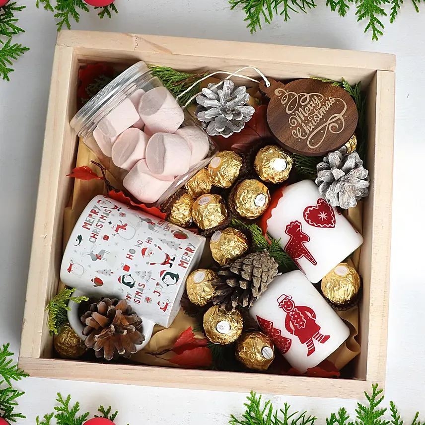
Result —
<svg viewBox="0 0 425 425"><path fill-rule="evenodd" d="M229 199L232 210L250 220L259 217L270 203L269 189L258 180L243 180L234 189Z"/></svg>

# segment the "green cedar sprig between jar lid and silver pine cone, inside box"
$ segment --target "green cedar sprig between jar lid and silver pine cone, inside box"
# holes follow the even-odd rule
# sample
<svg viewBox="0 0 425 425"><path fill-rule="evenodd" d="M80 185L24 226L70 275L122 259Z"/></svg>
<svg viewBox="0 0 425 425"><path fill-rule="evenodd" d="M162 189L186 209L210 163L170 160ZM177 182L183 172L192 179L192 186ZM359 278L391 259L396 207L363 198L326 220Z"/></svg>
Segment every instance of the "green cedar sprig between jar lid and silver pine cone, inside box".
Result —
<svg viewBox="0 0 425 425"><path fill-rule="evenodd" d="M160 67L158 65L148 65L151 69L152 74L158 77L165 87L174 94L178 96L184 90L189 88L197 79L202 78L208 75L208 72L200 72L198 74L191 74L188 72L176 71L173 68L169 67ZM192 89L187 93L181 96L178 100L184 105L192 96L199 93L200 83L196 84Z"/></svg>

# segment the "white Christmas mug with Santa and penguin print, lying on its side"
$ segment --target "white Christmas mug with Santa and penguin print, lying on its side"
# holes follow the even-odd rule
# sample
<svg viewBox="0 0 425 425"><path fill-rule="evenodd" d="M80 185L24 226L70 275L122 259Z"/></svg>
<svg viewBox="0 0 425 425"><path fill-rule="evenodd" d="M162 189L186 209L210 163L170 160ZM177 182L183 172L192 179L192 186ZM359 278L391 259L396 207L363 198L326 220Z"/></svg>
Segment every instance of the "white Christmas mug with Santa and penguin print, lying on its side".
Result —
<svg viewBox="0 0 425 425"><path fill-rule="evenodd" d="M72 230L61 280L87 296L127 299L147 337L155 323L168 327L176 317L204 245L202 236L99 195Z"/></svg>

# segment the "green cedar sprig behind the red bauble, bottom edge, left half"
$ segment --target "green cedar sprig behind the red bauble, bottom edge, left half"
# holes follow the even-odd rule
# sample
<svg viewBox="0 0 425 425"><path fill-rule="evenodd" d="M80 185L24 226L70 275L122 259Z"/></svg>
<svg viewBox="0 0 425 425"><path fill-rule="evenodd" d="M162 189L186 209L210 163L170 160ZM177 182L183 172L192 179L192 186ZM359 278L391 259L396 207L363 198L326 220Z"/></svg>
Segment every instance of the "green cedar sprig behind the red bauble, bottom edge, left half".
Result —
<svg viewBox="0 0 425 425"><path fill-rule="evenodd" d="M85 412L79 416L77 414L80 411L79 403L76 402L73 406L71 403L71 396L69 395L64 399L61 393L58 393L58 398L56 402L59 403L59 406L55 406L55 412L48 413L43 416L43 419L40 419L39 416L36 418L37 425L53 425L51 423L52 419L56 420L57 425L83 425L90 415L89 412ZM110 421L114 421L118 415L118 411L111 414L112 407L109 406L105 409L103 406L100 406L97 410L101 415L94 415L95 418L106 418Z"/></svg>

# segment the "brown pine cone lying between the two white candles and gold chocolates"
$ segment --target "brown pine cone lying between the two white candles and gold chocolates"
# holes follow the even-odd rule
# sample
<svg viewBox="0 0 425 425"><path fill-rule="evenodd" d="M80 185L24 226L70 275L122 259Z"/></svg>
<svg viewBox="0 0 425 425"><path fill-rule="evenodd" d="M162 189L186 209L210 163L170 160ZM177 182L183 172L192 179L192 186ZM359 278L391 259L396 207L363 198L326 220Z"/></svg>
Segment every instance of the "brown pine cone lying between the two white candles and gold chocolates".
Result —
<svg viewBox="0 0 425 425"><path fill-rule="evenodd" d="M249 308L277 274L278 263L266 250L239 258L217 273L221 282L215 285L213 303L226 310L237 306Z"/></svg>

